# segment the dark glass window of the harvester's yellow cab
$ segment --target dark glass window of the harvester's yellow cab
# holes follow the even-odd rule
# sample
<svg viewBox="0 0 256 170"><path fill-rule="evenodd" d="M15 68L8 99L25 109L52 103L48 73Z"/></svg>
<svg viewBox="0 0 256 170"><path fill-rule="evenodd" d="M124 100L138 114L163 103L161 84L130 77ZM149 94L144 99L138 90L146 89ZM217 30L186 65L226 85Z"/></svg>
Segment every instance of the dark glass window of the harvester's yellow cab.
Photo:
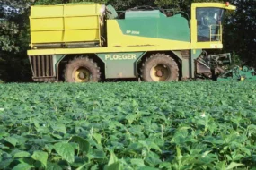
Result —
<svg viewBox="0 0 256 170"><path fill-rule="evenodd" d="M220 29L224 12L221 8L197 8L199 42L221 40Z"/></svg>

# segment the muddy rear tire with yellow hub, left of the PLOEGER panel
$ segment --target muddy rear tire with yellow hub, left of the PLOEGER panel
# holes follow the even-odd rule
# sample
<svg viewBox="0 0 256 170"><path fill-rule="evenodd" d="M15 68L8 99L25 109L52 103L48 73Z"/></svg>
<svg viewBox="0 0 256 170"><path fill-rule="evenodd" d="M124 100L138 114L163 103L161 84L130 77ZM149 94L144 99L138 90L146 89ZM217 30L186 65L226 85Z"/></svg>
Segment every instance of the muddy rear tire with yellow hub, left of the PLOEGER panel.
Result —
<svg viewBox="0 0 256 170"><path fill-rule="evenodd" d="M100 68L88 57L78 57L71 60L64 71L66 82L98 82Z"/></svg>

